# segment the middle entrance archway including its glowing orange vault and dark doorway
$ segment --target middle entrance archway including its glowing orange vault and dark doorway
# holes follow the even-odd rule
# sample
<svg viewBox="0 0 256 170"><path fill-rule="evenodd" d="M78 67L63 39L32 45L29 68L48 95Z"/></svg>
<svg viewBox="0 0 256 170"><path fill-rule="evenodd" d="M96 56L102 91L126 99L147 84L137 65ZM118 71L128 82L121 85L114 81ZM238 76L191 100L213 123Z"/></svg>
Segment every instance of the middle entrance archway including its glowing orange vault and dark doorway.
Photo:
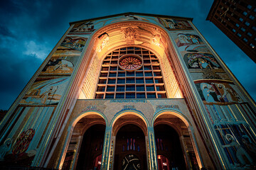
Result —
<svg viewBox="0 0 256 170"><path fill-rule="evenodd" d="M148 169L146 120L136 111L119 113L113 120L114 170Z"/></svg>

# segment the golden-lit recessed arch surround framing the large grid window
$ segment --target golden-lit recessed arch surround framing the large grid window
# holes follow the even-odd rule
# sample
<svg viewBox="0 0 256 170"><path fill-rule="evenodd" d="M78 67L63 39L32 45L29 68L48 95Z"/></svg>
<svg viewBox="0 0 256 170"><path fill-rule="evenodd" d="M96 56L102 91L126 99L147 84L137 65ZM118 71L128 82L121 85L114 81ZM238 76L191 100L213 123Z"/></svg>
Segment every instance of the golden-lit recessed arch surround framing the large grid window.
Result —
<svg viewBox="0 0 256 170"><path fill-rule="evenodd" d="M166 40L164 36L156 30L151 30L151 28L145 27L144 29L148 30L152 34L150 35L140 33L140 31L144 30L140 30L139 27L134 27L128 30L126 27L120 27L115 29L105 28L105 32L102 30L102 34L97 35L94 44L95 53L93 54L93 57L91 56L90 61L92 63L90 63L90 66L87 69L85 81L82 86L79 99L95 98L95 89L97 89L96 86L98 84L98 79L100 76L101 64L102 61L105 59L106 55L120 47L131 46L142 47L144 49L152 51L156 55L156 57L158 57L161 64L161 72L164 79L164 84L166 84L165 95L167 96L167 98L183 98L181 90L179 89L178 83L176 81L176 77L174 76L174 72L172 71L171 63L168 60L168 57L170 56L166 55L168 54L168 52L165 51ZM125 34L126 36L124 36L124 30L128 31L127 34ZM138 44L137 42L140 43ZM119 56L122 57L122 55ZM120 63L123 66L119 65L119 67L121 66L128 68L127 63L124 63L122 61ZM139 63L139 61L136 61L135 64L137 63ZM134 63L132 63L130 64L129 69L137 69L138 66L140 66L140 64L134 65ZM115 86L115 84L110 85ZM107 88L107 86L105 88Z"/></svg>

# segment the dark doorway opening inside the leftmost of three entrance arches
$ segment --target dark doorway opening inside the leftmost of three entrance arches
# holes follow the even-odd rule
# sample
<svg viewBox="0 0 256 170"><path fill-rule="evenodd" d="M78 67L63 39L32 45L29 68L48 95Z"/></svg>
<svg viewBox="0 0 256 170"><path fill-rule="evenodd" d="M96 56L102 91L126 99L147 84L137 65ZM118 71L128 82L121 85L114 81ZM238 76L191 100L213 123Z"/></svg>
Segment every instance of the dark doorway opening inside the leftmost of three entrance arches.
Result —
<svg viewBox="0 0 256 170"><path fill-rule="evenodd" d="M105 135L105 125L92 125L82 137L82 145L78 156L76 169L100 170L101 157ZM96 160L97 159L97 160Z"/></svg>

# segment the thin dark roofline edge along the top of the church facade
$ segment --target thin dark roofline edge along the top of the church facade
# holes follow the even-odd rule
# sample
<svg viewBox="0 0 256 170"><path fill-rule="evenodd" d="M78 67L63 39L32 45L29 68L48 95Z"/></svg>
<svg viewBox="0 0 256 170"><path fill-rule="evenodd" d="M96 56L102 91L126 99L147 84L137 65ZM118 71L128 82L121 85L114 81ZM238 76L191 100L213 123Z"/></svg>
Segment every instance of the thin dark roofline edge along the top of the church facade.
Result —
<svg viewBox="0 0 256 170"><path fill-rule="evenodd" d="M70 26L75 24L75 23L82 23L82 22L85 22L85 21L99 20L99 19L110 18L110 17L115 17L115 16L123 16L123 15L128 15L128 14L143 15L143 16L160 16L160 17L167 17L167 18L181 18L181 19L188 19L190 21L193 21L193 18L188 18L188 17L165 16L165 15L150 14L150 13L127 12L127 13L117 13L117 14L110 15L110 16L101 16L101 17L97 17L97 18L89 18L89 19L85 19L85 20L81 20L81 21L73 21L73 22L70 22Z"/></svg>

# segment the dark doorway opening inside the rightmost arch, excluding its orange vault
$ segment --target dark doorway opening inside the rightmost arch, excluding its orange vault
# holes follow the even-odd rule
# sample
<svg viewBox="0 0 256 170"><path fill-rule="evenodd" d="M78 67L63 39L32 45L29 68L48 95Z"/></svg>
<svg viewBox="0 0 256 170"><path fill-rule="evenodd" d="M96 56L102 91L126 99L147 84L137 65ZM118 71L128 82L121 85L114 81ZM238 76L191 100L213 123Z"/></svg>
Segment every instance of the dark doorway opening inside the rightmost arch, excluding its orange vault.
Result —
<svg viewBox="0 0 256 170"><path fill-rule="evenodd" d="M176 167L186 169L181 142L176 130L169 125L159 124L154 126L154 133L159 170Z"/></svg>

